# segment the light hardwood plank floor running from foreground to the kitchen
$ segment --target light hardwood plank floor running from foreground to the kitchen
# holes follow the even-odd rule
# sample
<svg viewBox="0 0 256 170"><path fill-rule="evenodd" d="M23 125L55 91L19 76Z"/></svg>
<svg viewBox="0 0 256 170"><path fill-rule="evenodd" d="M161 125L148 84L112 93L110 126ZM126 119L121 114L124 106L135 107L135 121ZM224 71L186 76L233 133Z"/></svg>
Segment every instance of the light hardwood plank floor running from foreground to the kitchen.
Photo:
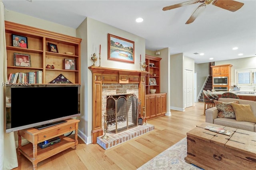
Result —
<svg viewBox="0 0 256 170"><path fill-rule="evenodd" d="M77 149L67 149L37 164L38 170L136 170L184 137L186 133L205 122L204 103L185 111L171 110L171 116L147 121L155 129L108 150L98 144L86 145L81 139ZM18 155L18 168L32 170L32 163Z"/></svg>

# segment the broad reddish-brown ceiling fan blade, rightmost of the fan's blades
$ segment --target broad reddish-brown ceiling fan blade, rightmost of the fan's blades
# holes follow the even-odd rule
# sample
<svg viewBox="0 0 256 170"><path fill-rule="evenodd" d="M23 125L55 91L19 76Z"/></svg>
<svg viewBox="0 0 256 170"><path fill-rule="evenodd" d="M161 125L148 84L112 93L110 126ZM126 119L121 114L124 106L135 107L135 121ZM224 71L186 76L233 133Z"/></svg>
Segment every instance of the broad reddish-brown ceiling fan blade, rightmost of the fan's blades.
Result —
<svg viewBox="0 0 256 170"><path fill-rule="evenodd" d="M244 5L244 3L237 2L234 0L214 0L212 2L212 5L218 6L225 10L229 10L231 12L235 12L235 11L239 10Z"/></svg>

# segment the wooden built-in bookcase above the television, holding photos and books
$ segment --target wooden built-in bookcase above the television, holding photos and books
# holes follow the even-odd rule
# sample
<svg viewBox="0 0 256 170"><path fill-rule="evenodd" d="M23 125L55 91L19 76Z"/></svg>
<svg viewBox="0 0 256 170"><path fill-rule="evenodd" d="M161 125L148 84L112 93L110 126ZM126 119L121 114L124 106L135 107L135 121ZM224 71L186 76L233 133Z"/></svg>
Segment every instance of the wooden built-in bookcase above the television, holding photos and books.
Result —
<svg viewBox="0 0 256 170"><path fill-rule="evenodd" d="M28 48L12 46L13 34L26 37ZM16 72L27 73L42 70L43 84L54 80L60 74L63 74L70 82L80 84L80 45L82 39L9 21L5 21L5 35L7 76ZM48 43L56 44L58 53L50 52ZM74 55L67 55L65 52L72 52ZM14 53L29 55L31 67L14 66ZM64 59L74 60L75 70L65 70ZM48 69L46 65L54 65L55 68Z"/></svg>

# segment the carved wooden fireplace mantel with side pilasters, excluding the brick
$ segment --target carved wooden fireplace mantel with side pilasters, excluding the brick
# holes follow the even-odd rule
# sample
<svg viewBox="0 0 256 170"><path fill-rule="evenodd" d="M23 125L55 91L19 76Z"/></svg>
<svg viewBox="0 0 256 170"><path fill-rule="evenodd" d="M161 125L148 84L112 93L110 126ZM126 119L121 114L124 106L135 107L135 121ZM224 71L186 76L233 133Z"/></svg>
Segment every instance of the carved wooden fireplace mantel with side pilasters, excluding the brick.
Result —
<svg viewBox="0 0 256 170"><path fill-rule="evenodd" d="M102 84L103 83L138 83L141 105L146 100L146 74L149 72L137 70L122 70L90 66L92 72L92 143L97 143L97 137L103 135L102 129Z"/></svg>

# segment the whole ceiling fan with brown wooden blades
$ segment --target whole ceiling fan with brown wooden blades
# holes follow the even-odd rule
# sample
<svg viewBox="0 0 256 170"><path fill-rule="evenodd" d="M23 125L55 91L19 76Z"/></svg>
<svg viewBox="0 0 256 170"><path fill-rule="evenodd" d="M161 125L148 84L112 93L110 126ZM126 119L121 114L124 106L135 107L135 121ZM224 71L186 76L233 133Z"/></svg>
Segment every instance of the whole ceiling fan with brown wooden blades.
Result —
<svg viewBox="0 0 256 170"><path fill-rule="evenodd" d="M244 3L237 2L234 0L190 0L190 1L182 2L180 4L166 6L163 8L163 11L172 10L174 8L179 8L179 7L187 6L187 5L191 5L191 4L196 4L198 2L203 3L203 4L201 4L200 6L198 6L196 8L196 10L193 12L193 14L190 16L190 18L188 19L188 21L185 24L192 23L194 20L196 20L198 15L200 13L202 13L202 11L206 8L206 5L208 5L210 3L212 3L212 5L214 5L214 6L218 6L220 8L229 10L231 12L235 12L235 11L239 10L244 5Z"/></svg>

